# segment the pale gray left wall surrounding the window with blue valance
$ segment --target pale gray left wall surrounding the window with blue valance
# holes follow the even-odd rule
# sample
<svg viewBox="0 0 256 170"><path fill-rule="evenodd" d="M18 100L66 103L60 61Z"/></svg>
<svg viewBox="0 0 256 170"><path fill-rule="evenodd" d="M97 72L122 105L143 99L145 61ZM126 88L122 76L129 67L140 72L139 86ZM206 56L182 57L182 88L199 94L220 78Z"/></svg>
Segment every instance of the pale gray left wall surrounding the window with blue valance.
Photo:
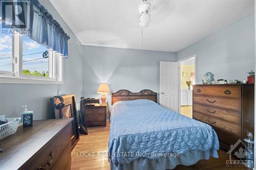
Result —
<svg viewBox="0 0 256 170"><path fill-rule="evenodd" d="M59 86L59 94L75 94L78 101L82 95L82 45L52 4L49 1L40 3L71 37L68 41L69 58L64 60L64 84ZM20 116L21 106L28 105L28 109L34 111L34 119L50 118L49 98L57 95L57 89L57 85L0 84L0 114Z"/></svg>

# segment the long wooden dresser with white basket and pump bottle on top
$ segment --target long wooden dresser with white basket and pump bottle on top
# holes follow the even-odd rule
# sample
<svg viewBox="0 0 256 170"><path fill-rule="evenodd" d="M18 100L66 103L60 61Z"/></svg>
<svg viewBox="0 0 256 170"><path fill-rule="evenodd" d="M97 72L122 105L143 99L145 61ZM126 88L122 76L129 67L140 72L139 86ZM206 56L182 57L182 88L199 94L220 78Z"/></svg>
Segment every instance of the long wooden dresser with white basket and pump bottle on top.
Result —
<svg viewBox="0 0 256 170"><path fill-rule="evenodd" d="M0 169L70 169L73 118L36 120L1 140Z"/></svg>

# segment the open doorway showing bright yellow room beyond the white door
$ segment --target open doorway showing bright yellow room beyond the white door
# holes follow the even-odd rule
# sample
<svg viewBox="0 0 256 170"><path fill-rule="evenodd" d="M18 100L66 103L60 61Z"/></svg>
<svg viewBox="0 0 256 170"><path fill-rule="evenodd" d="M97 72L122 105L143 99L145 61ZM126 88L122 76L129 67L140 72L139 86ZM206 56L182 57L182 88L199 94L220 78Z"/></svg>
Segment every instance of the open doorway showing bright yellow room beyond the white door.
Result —
<svg viewBox="0 0 256 170"><path fill-rule="evenodd" d="M193 84L196 83L196 56L188 57L180 63L180 113L193 117Z"/></svg>

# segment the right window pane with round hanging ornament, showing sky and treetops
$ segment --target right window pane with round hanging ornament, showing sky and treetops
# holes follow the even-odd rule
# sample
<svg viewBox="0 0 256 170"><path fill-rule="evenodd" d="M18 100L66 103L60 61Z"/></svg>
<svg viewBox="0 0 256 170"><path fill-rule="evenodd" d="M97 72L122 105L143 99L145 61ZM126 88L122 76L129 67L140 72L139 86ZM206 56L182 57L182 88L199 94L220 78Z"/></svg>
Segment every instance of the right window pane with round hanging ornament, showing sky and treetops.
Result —
<svg viewBox="0 0 256 170"><path fill-rule="evenodd" d="M22 74L49 77L49 49L23 36Z"/></svg>

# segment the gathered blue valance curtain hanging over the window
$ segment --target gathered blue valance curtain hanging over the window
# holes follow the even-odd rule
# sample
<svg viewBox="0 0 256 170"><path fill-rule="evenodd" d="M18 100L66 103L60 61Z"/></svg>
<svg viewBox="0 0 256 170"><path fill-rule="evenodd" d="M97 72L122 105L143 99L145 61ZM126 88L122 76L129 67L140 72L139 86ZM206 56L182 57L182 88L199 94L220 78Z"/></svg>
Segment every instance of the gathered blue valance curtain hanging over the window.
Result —
<svg viewBox="0 0 256 170"><path fill-rule="evenodd" d="M3 12L7 11L3 4L6 4L7 1L0 2L2 6L1 17L3 19ZM25 32L27 36L39 44L48 46L49 49L60 53L64 57L68 57L68 40L70 37L38 0L26 0L20 2L12 0L8 1L9 4L10 2L13 4L13 11L19 10L15 12L20 13L20 17L23 17L24 15L26 28L28 30ZM18 5L19 8L15 9L15 5ZM9 11L7 11L7 13ZM4 20L11 21L13 27L17 28L15 27L15 25L17 25L17 19L15 21L16 17L7 17L12 15L5 14Z"/></svg>

